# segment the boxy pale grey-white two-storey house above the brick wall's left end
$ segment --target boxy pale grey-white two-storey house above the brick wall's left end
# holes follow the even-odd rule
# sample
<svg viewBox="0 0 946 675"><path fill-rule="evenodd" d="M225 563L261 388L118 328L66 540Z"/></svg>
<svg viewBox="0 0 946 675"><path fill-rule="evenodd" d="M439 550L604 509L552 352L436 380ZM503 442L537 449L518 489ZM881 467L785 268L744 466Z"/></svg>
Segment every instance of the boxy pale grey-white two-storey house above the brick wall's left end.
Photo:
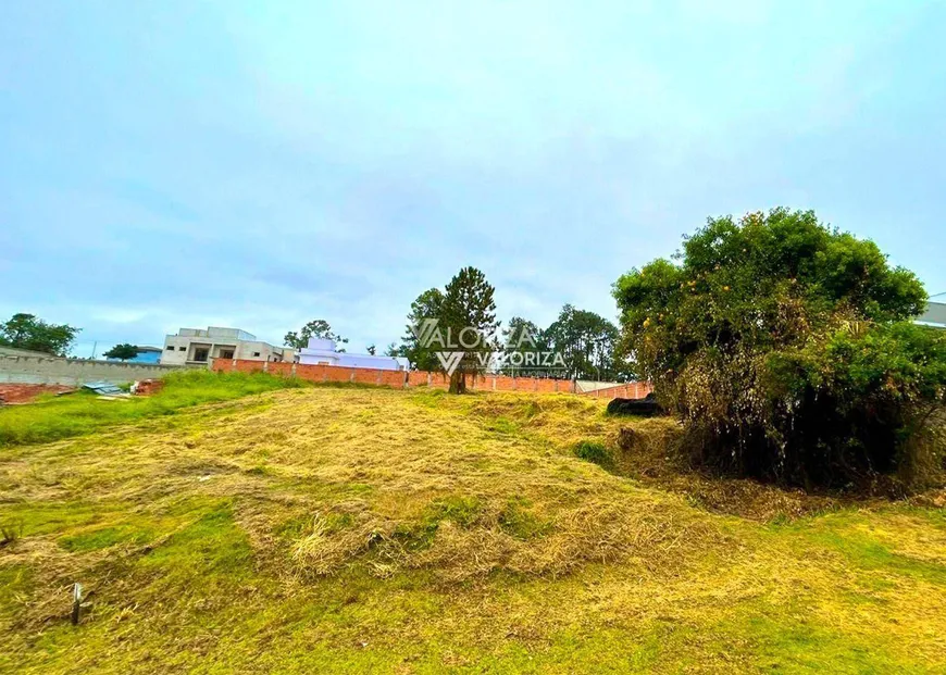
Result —
<svg viewBox="0 0 946 675"><path fill-rule="evenodd" d="M162 365L210 363L212 359L247 359L249 361L292 362L296 350L274 347L239 328L181 328L177 335L164 338Z"/></svg>

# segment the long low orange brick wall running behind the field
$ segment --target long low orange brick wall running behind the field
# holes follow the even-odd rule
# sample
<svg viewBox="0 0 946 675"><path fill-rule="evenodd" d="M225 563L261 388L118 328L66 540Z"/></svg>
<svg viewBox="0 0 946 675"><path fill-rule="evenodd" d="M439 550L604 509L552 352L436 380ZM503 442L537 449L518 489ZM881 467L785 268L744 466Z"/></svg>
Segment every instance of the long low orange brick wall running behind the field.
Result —
<svg viewBox="0 0 946 675"><path fill-rule="evenodd" d="M267 363L265 361L246 361L242 359L215 359L213 370L217 372L237 371L254 373L266 371L274 375L289 377L295 375L312 382L353 382L364 385L386 387L434 387L446 389L450 379L443 373L426 373L424 371L382 371L378 368L353 368L338 365L304 365L301 363ZM545 379L536 377L509 377L507 375L478 375L470 377L466 386L478 391L538 391L540 393L573 393L575 385L568 379ZM613 398L643 398L650 391L647 383L630 383L598 389L597 391L580 392L581 396L611 400Z"/></svg>

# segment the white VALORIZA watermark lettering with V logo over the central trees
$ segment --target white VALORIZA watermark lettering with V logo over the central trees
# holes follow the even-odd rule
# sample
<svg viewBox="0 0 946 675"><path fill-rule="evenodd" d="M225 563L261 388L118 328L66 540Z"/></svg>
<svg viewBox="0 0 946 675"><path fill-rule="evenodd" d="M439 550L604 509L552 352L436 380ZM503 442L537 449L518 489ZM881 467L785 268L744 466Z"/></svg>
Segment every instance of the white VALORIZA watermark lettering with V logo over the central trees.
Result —
<svg viewBox="0 0 946 675"><path fill-rule="evenodd" d="M437 318L424 318L410 327L423 349L434 350L440 367L452 375L461 364L470 370L513 371L538 377L563 377L568 366L562 355L543 349L535 335L525 326L500 336L475 326L459 330L443 328Z"/></svg>

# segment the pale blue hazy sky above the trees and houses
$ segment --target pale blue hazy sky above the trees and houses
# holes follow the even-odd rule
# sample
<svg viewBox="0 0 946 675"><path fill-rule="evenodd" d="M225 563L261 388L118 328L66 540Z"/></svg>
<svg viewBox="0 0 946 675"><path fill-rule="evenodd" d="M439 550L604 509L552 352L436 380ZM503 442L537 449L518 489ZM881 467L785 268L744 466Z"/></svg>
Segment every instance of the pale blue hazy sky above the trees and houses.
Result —
<svg viewBox="0 0 946 675"><path fill-rule="evenodd" d="M461 266L613 317L709 215L787 205L946 291L942 2L0 3L0 316L350 350Z"/></svg>

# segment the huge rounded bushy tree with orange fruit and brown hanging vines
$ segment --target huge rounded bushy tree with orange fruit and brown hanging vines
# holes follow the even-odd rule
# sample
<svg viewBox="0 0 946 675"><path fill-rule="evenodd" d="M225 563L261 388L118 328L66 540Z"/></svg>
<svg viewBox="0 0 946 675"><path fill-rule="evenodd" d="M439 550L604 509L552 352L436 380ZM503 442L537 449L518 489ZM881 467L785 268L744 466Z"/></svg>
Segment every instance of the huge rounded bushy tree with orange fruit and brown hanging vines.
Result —
<svg viewBox="0 0 946 675"><path fill-rule="evenodd" d="M810 211L710 218L614 297L623 349L702 460L809 486L939 461L946 335L910 323L924 289L872 241Z"/></svg>

